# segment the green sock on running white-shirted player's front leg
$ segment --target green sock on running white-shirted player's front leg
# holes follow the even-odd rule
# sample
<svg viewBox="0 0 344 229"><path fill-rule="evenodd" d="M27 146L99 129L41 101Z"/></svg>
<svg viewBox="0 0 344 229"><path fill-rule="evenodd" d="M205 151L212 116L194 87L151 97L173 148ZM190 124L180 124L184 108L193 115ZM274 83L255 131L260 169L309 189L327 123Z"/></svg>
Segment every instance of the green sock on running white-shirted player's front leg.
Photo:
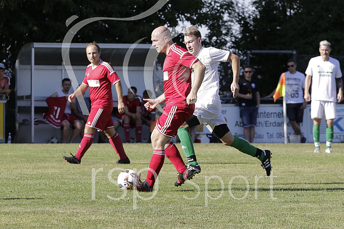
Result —
<svg viewBox="0 0 344 229"><path fill-rule="evenodd" d="M185 127L179 127L177 134L188 163L191 165L197 165L195 150L193 149L193 143L189 132L187 132Z"/></svg>

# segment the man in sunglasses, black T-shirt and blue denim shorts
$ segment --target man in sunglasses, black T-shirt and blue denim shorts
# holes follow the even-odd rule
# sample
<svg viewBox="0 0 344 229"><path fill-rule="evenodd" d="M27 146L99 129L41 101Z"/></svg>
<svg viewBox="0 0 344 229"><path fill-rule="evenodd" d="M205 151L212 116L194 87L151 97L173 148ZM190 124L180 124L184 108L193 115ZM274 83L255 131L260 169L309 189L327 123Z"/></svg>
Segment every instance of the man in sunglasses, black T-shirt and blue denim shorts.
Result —
<svg viewBox="0 0 344 229"><path fill-rule="evenodd" d="M239 78L240 89L238 93L240 117L244 126L244 137L250 143L253 143L255 139L255 127L257 126L257 115L260 105L258 81L252 75L252 67L244 67L245 77Z"/></svg>

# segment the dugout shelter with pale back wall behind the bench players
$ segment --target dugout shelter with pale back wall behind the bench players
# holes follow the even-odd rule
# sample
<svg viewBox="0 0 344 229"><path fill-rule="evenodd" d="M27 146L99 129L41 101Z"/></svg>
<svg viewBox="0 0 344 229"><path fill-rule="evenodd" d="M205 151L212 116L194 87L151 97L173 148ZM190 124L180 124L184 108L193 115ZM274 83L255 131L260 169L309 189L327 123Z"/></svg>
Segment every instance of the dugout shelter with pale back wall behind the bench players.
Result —
<svg viewBox="0 0 344 229"><path fill-rule="evenodd" d="M154 68L161 59L151 44L98 44L100 58L109 62L120 77L123 95L130 86L136 86L137 94L142 96L145 89L154 91ZM68 44L70 65L63 58L62 43L28 43L21 48L15 64L16 76L16 143L48 143L52 136L60 136L61 131L47 125L42 120L42 113L47 111L45 99L61 90L62 79L72 80L75 85L82 83L86 66L85 43ZM163 61L163 60L162 60ZM72 69L75 77L70 77ZM75 79L77 83L75 82ZM114 107L117 107L117 93L112 86ZM89 97L89 89L84 95ZM154 97L154 95L153 95ZM45 125L44 125L45 124ZM80 141L80 140L79 140Z"/></svg>

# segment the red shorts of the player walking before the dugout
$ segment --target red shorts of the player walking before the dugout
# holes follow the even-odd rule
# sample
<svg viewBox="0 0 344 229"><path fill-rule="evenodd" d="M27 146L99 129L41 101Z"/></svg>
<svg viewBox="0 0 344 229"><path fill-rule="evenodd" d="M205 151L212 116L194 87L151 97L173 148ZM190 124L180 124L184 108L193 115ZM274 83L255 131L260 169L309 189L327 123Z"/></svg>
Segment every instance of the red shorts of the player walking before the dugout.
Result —
<svg viewBox="0 0 344 229"><path fill-rule="evenodd" d="M105 129L113 128L113 121L111 117L112 110L104 110L98 107L91 107L86 126L103 131Z"/></svg>

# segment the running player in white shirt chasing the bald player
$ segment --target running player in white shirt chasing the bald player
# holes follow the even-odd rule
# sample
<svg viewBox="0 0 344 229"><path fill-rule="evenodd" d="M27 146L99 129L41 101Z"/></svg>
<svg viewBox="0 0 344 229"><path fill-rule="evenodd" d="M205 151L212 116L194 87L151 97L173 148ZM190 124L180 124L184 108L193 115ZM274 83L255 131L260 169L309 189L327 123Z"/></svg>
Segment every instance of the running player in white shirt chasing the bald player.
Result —
<svg viewBox="0 0 344 229"><path fill-rule="evenodd" d="M271 152L268 150L262 151L251 145L245 139L233 136L221 113L222 105L219 96L218 63L220 61L232 62L233 82L231 84L231 90L233 97L236 97L239 92L239 57L226 50L202 47L201 33L196 26L188 27L185 30L184 43L189 53L197 57L206 67L204 79L197 92L195 111L178 129L180 144L188 160L187 168L194 173L201 171L187 129L202 123L225 146L234 147L243 153L257 157L261 161L262 167L266 170L266 175L269 176L271 171Z"/></svg>

